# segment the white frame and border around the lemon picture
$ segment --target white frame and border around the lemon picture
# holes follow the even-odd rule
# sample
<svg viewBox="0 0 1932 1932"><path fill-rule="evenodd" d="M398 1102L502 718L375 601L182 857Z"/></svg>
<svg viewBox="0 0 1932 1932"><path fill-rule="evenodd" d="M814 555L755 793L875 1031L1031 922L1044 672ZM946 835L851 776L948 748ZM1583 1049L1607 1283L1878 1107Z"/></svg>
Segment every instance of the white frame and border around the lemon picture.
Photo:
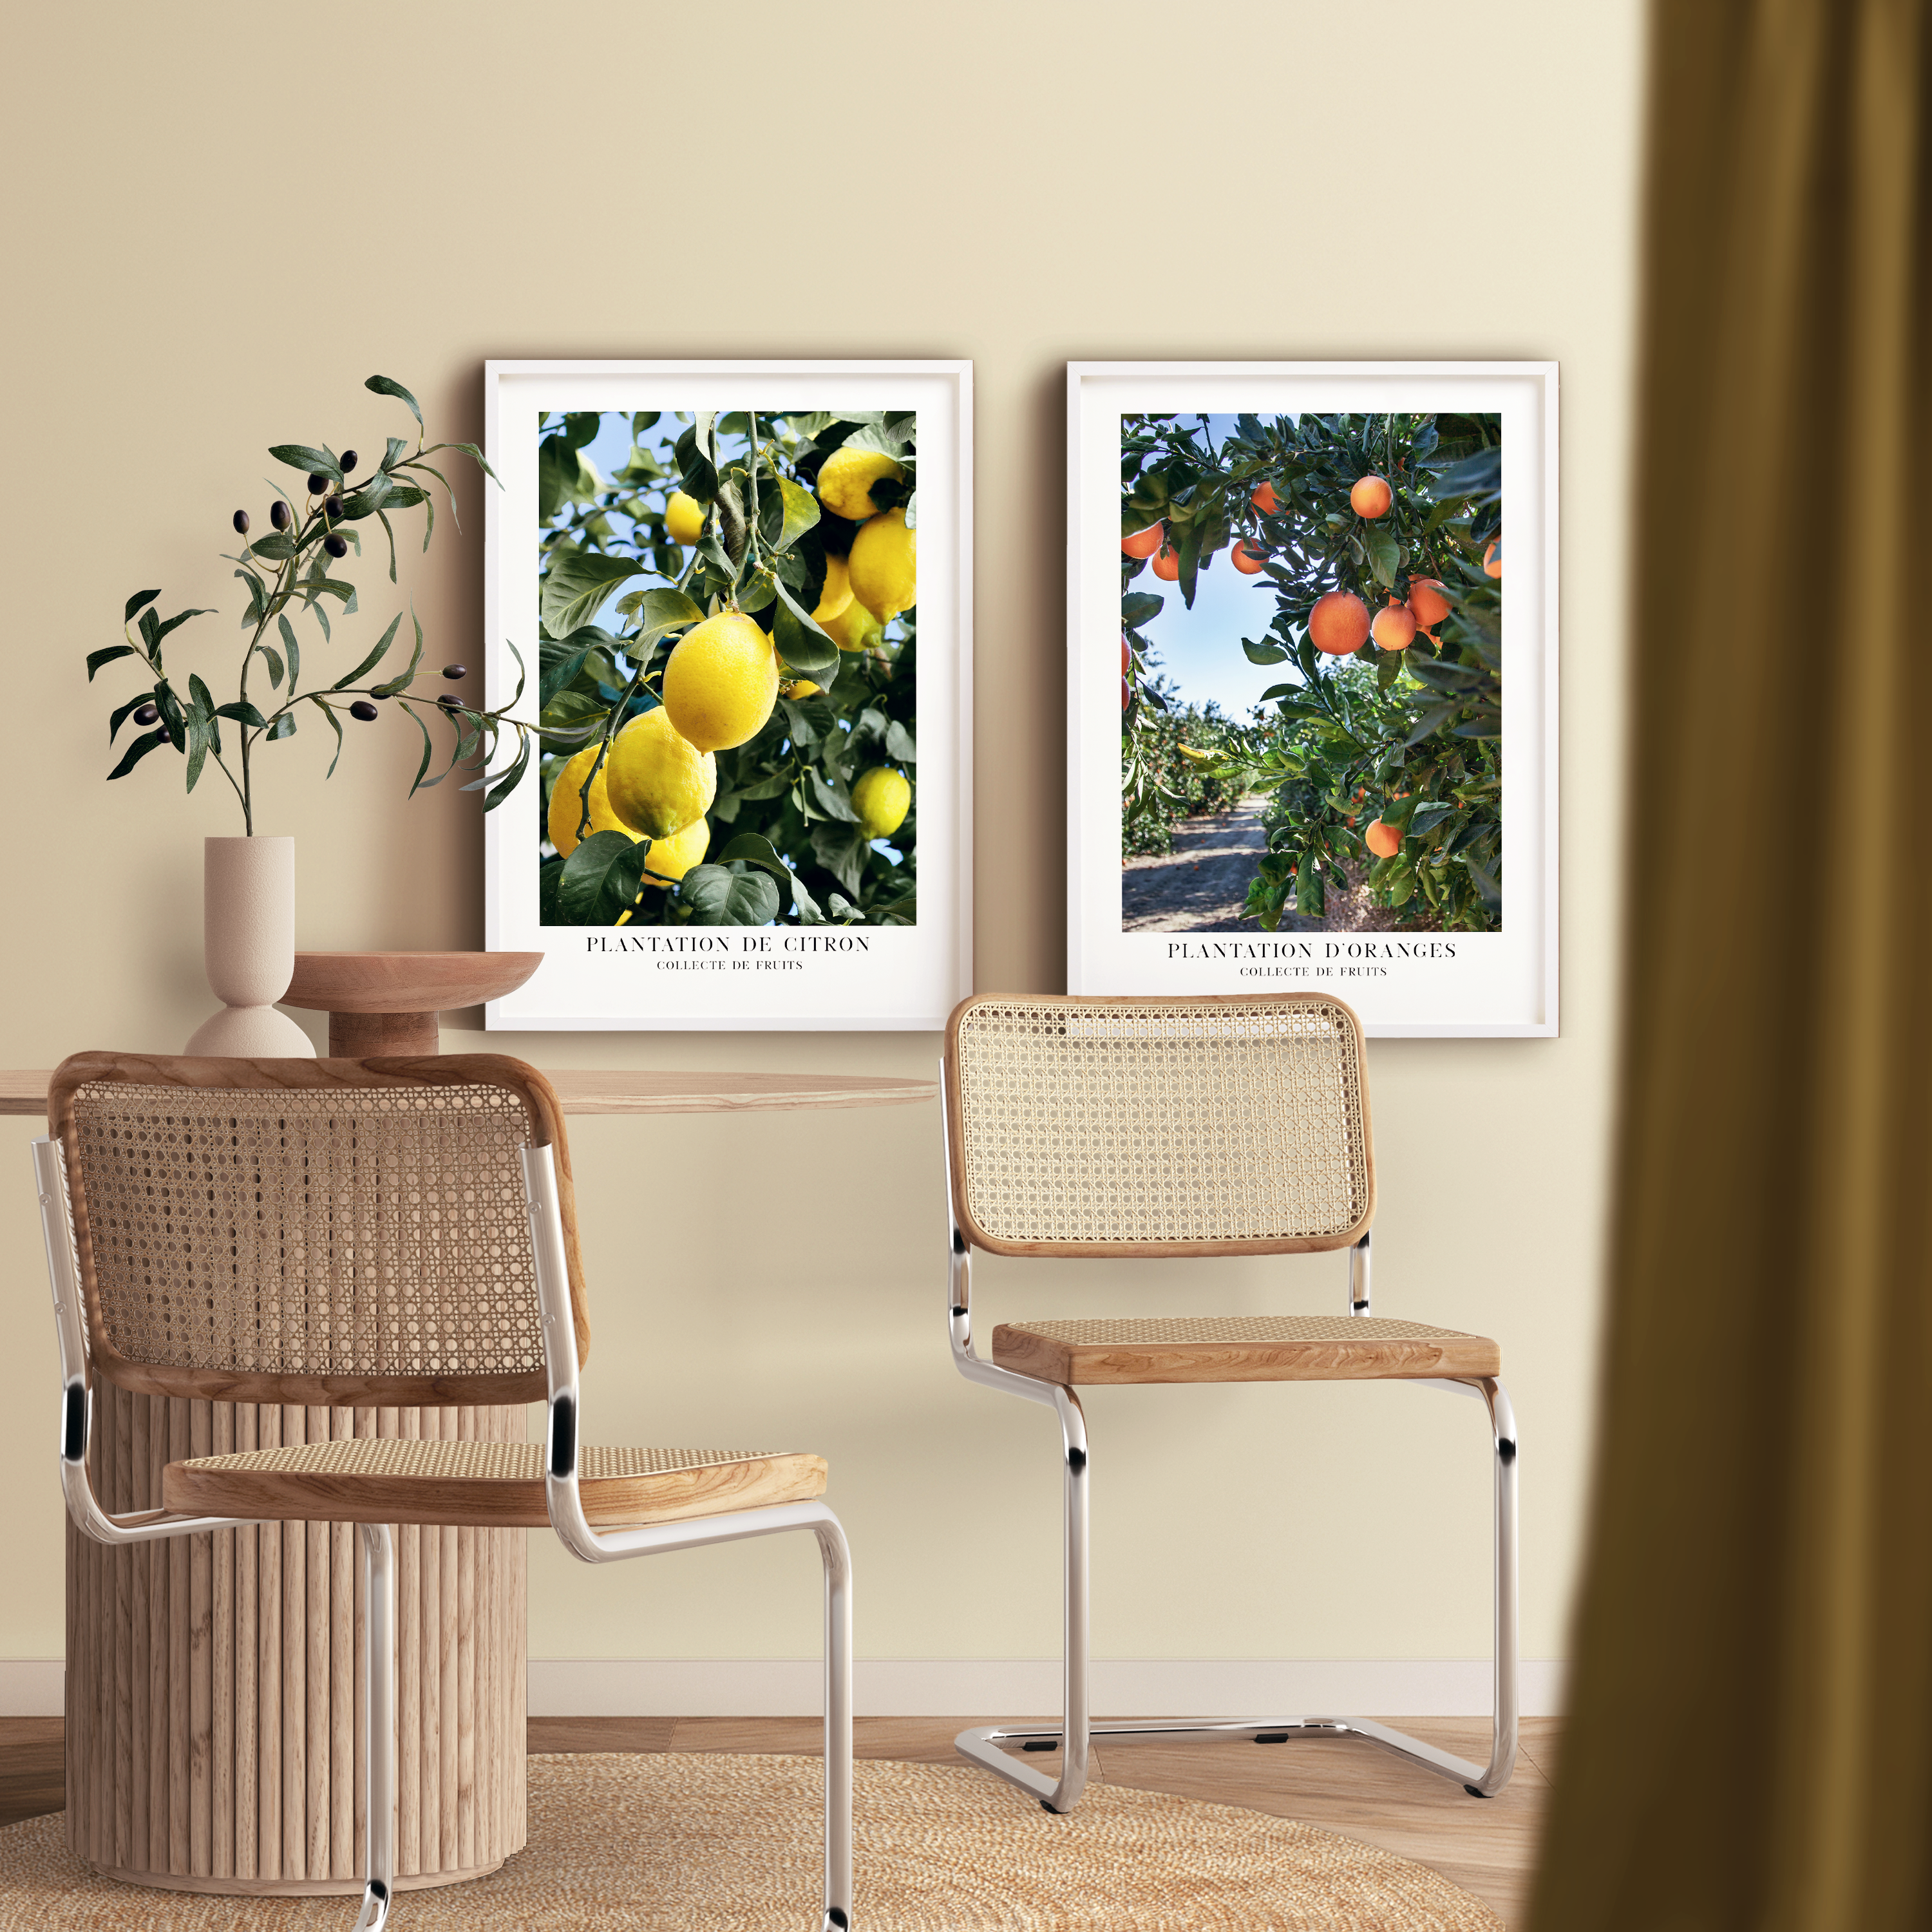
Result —
<svg viewBox="0 0 1932 1932"><path fill-rule="evenodd" d="M920 900L914 925L715 925L639 931L543 925L535 759L485 817L485 943L543 952L493 1030L937 1032L972 991L972 363L970 361L489 361L485 489L489 701L535 715L539 412L918 410L920 413ZM624 945L622 941L626 941ZM684 941L684 945L670 945Z"/></svg>

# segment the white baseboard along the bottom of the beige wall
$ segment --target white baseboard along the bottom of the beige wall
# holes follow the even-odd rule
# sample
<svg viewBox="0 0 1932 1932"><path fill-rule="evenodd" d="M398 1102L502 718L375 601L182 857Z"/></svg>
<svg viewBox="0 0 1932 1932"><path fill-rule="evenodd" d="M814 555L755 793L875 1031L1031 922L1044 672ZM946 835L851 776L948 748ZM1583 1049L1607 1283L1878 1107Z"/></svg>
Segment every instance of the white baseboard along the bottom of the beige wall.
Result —
<svg viewBox="0 0 1932 1932"><path fill-rule="evenodd" d="M1051 1658L862 1658L862 1718L1037 1718L1059 1706ZM1524 1718L1563 1710L1563 1665L1524 1658ZM0 1716L58 1718L58 1658L0 1658ZM815 1658L531 1658L533 1718L808 1718L819 1710ZM1470 1718L1490 1710L1482 1660L1121 1660L1094 1663L1094 1710L1134 1718L1296 1714Z"/></svg>

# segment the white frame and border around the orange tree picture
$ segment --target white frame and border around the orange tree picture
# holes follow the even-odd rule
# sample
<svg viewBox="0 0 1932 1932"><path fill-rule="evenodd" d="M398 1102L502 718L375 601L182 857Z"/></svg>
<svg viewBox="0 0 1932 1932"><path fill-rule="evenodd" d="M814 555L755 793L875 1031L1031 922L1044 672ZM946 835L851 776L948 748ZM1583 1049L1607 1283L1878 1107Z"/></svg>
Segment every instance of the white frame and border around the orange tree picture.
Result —
<svg viewBox="0 0 1932 1932"><path fill-rule="evenodd" d="M1238 933L1122 931L1121 417L1437 410L1503 417L1501 931L1265 933L1256 920ZM1325 991L1378 1036L1553 1036L1557 365L1068 363L1066 469L1066 989Z"/></svg>

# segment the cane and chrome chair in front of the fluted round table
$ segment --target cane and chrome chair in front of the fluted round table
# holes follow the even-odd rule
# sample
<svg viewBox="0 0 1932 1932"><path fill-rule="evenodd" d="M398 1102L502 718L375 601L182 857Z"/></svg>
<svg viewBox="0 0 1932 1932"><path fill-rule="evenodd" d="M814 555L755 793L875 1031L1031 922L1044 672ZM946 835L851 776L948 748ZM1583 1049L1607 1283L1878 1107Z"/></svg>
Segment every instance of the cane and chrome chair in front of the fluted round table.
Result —
<svg viewBox="0 0 1932 1932"><path fill-rule="evenodd" d="M810 1530L825 1567L825 1905L852 1913L852 1607L815 1455L580 1447L589 1347L556 1095L500 1055L377 1061L81 1053L33 1148L60 1329L60 1476L102 1544L355 1522L369 1604L357 1932L394 1882L390 1524L551 1526L585 1563ZM218 1403L545 1399L543 1443L359 1437L170 1463L162 1509L89 1480L93 1378Z"/></svg>

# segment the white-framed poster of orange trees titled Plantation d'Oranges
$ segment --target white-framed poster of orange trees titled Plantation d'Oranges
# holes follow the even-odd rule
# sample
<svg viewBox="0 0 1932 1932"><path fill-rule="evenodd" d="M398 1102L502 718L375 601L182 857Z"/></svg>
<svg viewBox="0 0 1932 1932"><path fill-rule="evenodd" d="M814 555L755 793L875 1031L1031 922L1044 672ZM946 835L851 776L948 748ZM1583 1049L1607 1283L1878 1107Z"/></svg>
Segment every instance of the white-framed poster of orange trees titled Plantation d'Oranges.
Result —
<svg viewBox="0 0 1932 1932"><path fill-rule="evenodd" d="M1068 987L1557 1030L1553 363L1072 363Z"/></svg>

